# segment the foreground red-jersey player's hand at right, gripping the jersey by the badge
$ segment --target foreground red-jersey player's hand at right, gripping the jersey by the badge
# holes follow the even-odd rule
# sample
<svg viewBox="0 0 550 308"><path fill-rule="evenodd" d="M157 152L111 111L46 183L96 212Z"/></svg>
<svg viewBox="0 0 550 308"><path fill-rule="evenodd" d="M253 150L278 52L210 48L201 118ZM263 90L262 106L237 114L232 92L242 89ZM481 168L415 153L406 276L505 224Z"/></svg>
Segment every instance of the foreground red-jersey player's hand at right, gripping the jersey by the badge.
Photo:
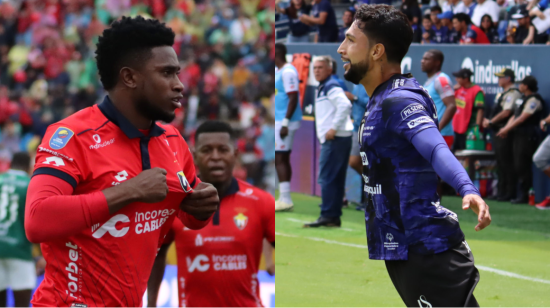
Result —
<svg viewBox="0 0 550 308"><path fill-rule="evenodd" d="M198 220L207 220L220 206L218 190L212 185L200 182L180 203L180 210Z"/></svg>

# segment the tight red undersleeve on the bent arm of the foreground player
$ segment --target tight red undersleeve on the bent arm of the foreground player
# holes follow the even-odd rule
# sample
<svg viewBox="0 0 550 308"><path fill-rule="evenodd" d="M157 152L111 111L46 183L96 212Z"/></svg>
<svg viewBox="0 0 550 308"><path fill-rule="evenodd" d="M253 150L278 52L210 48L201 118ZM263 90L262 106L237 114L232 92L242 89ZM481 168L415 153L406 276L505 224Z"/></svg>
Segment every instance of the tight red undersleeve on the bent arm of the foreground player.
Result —
<svg viewBox="0 0 550 308"><path fill-rule="evenodd" d="M66 238L110 216L101 192L72 195L72 186L51 175L31 179L25 205L25 233L32 243Z"/></svg>

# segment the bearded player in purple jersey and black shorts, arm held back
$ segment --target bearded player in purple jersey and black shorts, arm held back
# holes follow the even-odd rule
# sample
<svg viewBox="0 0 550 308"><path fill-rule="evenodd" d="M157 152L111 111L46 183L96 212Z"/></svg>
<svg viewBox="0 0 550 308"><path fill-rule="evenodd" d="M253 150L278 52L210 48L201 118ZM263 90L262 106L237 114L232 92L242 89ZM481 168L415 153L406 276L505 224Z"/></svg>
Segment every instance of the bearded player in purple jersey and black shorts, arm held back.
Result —
<svg viewBox="0 0 550 308"><path fill-rule="evenodd" d="M478 307L479 272L457 215L440 205L438 175L478 214L476 231L491 223L489 207L441 136L427 91L401 74L412 36L397 9L363 5L338 48L344 77L370 97L358 138L369 258L385 260L409 307Z"/></svg>

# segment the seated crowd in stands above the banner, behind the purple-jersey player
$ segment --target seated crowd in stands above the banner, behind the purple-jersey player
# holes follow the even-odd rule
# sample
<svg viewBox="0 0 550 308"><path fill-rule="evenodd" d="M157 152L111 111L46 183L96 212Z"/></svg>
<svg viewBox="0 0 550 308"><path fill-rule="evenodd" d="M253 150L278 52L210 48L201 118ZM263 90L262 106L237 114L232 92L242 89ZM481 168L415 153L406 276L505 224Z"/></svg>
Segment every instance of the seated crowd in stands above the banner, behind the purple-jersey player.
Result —
<svg viewBox="0 0 550 308"><path fill-rule="evenodd" d="M548 0L401 1L276 0L276 18L288 19L288 43L342 42L359 5L393 4L407 15L413 43L550 45Z"/></svg>

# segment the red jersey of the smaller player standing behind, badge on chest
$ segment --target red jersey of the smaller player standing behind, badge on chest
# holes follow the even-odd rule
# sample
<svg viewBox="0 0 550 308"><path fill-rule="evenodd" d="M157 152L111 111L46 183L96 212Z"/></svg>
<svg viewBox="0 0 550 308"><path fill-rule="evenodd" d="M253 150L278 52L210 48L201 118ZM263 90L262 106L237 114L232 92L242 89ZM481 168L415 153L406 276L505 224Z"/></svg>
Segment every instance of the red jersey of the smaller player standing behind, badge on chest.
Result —
<svg viewBox="0 0 550 308"><path fill-rule="evenodd" d="M181 307L261 307L257 278L263 239L275 242L275 199L233 179L220 210L201 230L174 220Z"/></svg>

